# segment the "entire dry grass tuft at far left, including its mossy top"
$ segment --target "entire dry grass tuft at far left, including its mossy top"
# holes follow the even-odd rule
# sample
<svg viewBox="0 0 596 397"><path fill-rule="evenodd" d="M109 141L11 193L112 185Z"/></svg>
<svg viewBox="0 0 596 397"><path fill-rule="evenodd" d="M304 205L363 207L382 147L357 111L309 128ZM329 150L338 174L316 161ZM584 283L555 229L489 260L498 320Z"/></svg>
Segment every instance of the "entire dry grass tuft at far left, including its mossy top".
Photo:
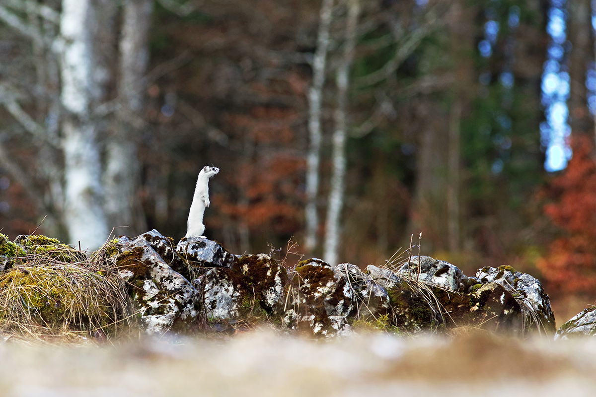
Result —
<svg viewBox="0 0 596 397"><path fill-rule="evenodd" d="M108 243L86 258L60 245L20 257L0 276L0 329L29 340L72 340L128 329L132 303L110 260L113 248ZM67 258L82 260L62 260Z"/></svg>

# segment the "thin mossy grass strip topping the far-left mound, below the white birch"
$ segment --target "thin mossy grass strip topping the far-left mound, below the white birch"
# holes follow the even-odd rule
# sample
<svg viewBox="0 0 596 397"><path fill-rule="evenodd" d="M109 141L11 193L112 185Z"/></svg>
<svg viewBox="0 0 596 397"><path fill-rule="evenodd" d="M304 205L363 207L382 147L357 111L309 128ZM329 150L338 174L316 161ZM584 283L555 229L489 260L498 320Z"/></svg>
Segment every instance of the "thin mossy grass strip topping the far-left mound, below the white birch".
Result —
<svg viewBox="0 0 596 397"><path fill-rule="evenodd" d="M75 263L86 260L85 252L61 243L58 239L42 235L20 235L15 240L27 254L39 259L50 259L61 263Z"/></svg>

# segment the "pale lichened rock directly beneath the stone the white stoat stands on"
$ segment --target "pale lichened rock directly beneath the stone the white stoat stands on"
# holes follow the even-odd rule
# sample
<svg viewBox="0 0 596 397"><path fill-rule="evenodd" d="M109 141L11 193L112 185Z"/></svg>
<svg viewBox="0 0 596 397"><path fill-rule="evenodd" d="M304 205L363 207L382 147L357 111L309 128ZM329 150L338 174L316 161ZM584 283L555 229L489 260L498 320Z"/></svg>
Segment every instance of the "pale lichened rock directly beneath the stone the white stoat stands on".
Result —
<svg viewBox="0 0 596 397"><path fill-rule="evenodd" d="M194 280L203 294L203 308L209 321L235 320L244 301L243 288L232 270L212 268Z"/></svg>

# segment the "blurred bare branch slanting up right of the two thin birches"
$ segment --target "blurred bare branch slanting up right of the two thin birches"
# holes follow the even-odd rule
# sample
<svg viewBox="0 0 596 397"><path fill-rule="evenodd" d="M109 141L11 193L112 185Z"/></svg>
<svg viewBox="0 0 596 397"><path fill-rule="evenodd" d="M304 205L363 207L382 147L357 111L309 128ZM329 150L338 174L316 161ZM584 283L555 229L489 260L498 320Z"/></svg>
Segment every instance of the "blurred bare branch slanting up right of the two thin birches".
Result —
<svg viewBox="0 0 596 397"><path fill-rule="evenodd" d="M356 79L354 86L356 88L368 87L387 79L392 73L395 73L399 65L414 52L424 37L443 26L445 22L442 18L439 18L439 15L440 12L437 7L427 12L424 23L404 37L403 41L399 43L398 51L395 52L393 58L379 70Z"/></svg>

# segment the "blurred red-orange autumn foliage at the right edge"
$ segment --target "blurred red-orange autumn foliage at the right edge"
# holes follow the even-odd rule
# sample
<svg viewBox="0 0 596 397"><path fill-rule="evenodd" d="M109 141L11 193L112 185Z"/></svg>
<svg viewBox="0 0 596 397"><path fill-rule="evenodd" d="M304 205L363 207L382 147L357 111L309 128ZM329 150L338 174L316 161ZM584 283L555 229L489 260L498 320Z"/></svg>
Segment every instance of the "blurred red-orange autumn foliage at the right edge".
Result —
<svg viewBox="0 0 596 397"><path fill-rule="evenodd" d="M587 136L574 136L573 158L552 181L555 202L544 212L563 229L538 268L553 290L589 293L596 287L596 161Z"/></svg>

